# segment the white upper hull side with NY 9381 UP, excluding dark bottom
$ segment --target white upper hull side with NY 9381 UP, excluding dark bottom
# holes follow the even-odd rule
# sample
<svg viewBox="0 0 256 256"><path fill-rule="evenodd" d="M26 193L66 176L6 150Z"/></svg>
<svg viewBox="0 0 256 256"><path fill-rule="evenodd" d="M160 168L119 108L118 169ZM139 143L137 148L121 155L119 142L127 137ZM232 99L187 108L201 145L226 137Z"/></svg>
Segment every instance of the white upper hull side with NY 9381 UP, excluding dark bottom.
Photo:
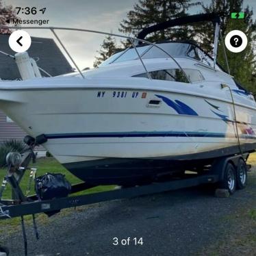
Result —
<svg viewBox="0 0 256 256"><path fill-rule="evenodd" d="M72 83L73 79L68 80ZM69 88L35 85L6 90L6 85L1 92L4 97L1 108L29 135L50 136L44 147L61 163L106 157L179 157L238 144L232 122L233 105L227 91L220 90L221 100L216 100L206 94L204 88L201 95L192 95L192 91L190 94L190 84L185 85L183 91L179 85L179 93L166 91L164 87L149 90L151 81L147 90L136 88L135 84L141 80L134 78L132 88L127 86L122 90L121 86L99 89L90 84L88 88L72 88L71 84ZM74 83L76 81L74 78ZM164 83L159 81L155 87L160 89L161 84ZM120 97L113 97L118 92ZM146 93L144 99L143 93ZM14 101L5 101L6 98ZM240 98L238 94L236 99ZM179 114L163 99L185 103L196 114L190 110ZM151 100L160 103L149 105ZM235 106L240 142L255 143L255 109L253 105L243 105L242 100Z"/></svg>

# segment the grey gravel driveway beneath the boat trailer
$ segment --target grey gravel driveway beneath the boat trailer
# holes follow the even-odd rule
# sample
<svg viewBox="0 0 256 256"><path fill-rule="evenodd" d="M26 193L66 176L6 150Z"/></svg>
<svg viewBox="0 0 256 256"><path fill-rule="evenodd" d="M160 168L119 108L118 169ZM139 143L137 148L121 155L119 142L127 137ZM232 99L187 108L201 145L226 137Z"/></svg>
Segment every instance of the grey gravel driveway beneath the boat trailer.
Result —
<svg viewBox="0 0 256 256"><path fill-rule="evenodd" d="M205 255L203 249L231 231L229 217L256 209L255 192L251 182L228 199L201 187L79 207L39 225L39 241L27 227L29 255ZM115 246L113 238L124 244L131 240ZM143 244L134 245L133 238ZM10 256L23 255L21 232L5 245Z"/></svg>

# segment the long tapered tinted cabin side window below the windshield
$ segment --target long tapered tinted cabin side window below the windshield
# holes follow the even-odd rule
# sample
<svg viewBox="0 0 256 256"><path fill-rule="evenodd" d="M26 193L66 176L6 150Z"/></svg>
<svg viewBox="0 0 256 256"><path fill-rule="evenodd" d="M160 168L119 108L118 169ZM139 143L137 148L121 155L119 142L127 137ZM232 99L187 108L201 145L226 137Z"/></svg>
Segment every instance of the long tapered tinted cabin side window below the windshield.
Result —
<svg viewBox="0 0 256 256"><path fill-rule="evenodd" d="M185 68L183 69L185 74L189 77L190 81L202 81L204 80L203 75L200 71L196 69ZM188 79L185 74L179 68L172 68L172 69L162 69L160 71L151 71L149 74L151 75L152 79L157 80L166 80L166 81L179 81L183 83L188 83ZM139 75L133 75L133 77L145 77L148 78L146 73L142 73Z"/></svg>

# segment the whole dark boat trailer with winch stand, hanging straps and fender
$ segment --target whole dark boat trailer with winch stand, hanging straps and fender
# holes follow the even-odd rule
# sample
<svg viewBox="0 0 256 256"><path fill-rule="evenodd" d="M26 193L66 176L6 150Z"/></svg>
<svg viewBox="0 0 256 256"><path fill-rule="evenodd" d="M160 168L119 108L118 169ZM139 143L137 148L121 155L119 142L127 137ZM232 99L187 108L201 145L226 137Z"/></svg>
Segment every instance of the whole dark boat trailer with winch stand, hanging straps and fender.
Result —
<svg viewBox="0 0 256 256"><path fill-rule="evenodd" d="M26 136L30 137L30 136ZM136 196L143 196L149 194L155 194L159 192L166 192L170 190L179 190L181 188L189 188L196 185L206 184L206 183L216 183L219 188L227 189L229 181L227 179L227 166L231 163L235 168L239 168L240 162L246 163L248 158L248 153L244 155L233 155L230 157L221 157L216 159L214 164L209 167L206 174L199 172L199 174L184 174L182 177L176 177L168 181L155 182L149 185L140 185L130 188L119 188L116 190L110 190L107 192L97 192L93 194L85 194L80 196L70 196L76 192L84 191L90 188L95 187L95 185L87 184L86 182L77 183L71 185L71 190L68 193L68 196L61 198L52 198L48 200L40 199L38 194L28 196L29 190L31 188L31 182L36 181L36 168L29 168L29 163L31 160L36 162L36 155L34 154L34 147L36 142L32 140L31 137L29 140L28 148L21 155L19 153L9 153L6 157L8 168L7 175L3 179L3 183L0 188L0 219L21 217L21 226L23 231L24 246L25 246L25 255L27 255L27 236L25 233L25 225L23 216L32 215L34 230L36 238L39 239L38 229L36 226L35 214L44 213L48 216L52 216L57 212L60 212L61 209L78 207L81 205L90 205L93 203L99 203L103 201L112 201L116 199L129 199ZM245 168L245 175L247 177L248 165ZM243 167L244 167L243 166ZM29 184L27 185L26 194L21 190L20 183L25 175L25 172L29 172ZM238 176L240 170L237 170ZM7 184L10 184L12 188L12 199L1 199L3 191ZM244 184L245 186L245 184ZM238 185L238 188L242 188L242 185ZM229 191L231 192L231 191ZM232 194L232 192L231 192ZM8 255L8 249L0 246L0 256L1 252L5 252L3 255Z"/></svg>

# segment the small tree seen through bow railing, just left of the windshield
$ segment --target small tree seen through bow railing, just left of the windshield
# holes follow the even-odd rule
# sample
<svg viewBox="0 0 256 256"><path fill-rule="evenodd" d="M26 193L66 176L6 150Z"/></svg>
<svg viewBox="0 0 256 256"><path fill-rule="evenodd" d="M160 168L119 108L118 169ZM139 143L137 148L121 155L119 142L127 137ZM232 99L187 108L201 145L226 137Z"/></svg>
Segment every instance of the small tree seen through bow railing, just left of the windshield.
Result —
<svg viewBox="0 0 256 256"><path fill-rule="evenodd" d="M116 38L113 38L112 36L106 36L101 44L101 49L97 51L99 55L95 57L93 64L94 68L97 68L101 62L107 60L107 58L116 53L117 50L118 47L116 44Z"/></svg>

